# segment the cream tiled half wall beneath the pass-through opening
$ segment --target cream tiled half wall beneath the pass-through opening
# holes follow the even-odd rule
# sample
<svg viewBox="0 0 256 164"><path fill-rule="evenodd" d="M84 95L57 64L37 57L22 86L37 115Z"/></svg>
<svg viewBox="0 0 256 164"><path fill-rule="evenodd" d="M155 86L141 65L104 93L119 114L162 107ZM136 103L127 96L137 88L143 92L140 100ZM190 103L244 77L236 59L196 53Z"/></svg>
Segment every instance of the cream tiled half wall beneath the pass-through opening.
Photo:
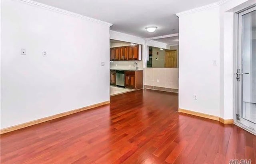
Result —
<svg viewBox="0 0 256 164"><path fill-rule="evenodd" d="M144 68L144 88L178 92L179 68Z"/></svg>

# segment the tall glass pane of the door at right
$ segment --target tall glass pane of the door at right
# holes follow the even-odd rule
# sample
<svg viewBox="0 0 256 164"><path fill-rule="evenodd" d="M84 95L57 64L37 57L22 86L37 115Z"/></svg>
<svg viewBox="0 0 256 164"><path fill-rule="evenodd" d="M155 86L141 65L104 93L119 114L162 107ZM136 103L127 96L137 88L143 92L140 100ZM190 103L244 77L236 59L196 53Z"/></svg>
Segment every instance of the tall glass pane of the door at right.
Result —
<svg viewBox="0 0 256 164"><path fill-rule="evenodd" d="M256 123L256 10L242 16L242 117Z"/></svg>

